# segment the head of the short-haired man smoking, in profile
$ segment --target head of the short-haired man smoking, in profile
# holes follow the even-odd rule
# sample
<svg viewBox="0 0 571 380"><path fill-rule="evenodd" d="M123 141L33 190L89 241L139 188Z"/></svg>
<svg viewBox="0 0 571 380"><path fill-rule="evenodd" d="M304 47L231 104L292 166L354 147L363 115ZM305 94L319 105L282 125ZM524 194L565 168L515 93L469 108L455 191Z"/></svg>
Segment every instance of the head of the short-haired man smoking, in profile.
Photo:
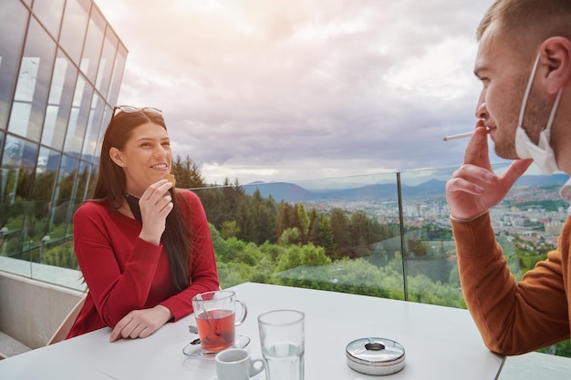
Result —
<svg viewBox="0 0 571 380"><path fill-rule="evenodd" d="M557 93L569 85L571 1L496 0L483 16L477 38L480 46L474 73L482 80L483 90L476 117L491 128L498 156L516 159L514 137L528 81L532 85L524 102L522 127L533 144L548 123ZM530 78L537 56L537 70ZM569 99L568 91L564 92L551 141L555 134L561 135L564 120L568 123L568 114L561 112ZM551 145L559 161L556 144Z"/></svg>

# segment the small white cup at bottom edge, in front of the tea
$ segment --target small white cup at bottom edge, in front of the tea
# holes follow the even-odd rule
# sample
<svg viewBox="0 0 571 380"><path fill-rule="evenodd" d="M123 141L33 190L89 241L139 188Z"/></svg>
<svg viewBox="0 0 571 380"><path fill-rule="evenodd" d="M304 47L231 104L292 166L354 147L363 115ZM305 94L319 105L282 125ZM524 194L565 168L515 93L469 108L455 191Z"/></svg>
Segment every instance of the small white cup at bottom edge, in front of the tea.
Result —
<svg viewBox="0 0 571 380"><path fill-rule="evenodd" d="M229 348L216 354L217 380L248 380L265 368L264 359L251 358L244 348Z"/></svg>

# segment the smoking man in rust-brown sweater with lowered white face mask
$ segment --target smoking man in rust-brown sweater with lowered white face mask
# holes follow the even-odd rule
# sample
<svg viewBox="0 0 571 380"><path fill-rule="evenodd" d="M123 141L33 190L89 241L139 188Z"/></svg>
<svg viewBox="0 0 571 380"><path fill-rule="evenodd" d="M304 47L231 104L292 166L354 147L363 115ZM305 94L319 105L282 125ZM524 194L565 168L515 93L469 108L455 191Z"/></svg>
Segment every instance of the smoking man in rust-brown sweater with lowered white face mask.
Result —
<svg viewBox="0 0 571 380"><path fill-rule="evenodd" d="M515 282L489 209L532 161L571 174L571 1L496 0L477 38L479 120L446 195L462 291L483 340L493 352L524 354L570 338L571 221L559 248ZM498 156L514 159L502 175L490 165L487 133Z"/></svg>

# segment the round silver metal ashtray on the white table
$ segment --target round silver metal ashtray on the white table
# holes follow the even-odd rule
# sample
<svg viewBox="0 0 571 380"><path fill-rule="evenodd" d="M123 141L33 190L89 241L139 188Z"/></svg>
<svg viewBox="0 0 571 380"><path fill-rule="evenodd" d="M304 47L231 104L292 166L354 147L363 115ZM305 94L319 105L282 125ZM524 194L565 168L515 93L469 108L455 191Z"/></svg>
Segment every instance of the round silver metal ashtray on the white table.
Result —
<svg viewBox="0 0 571 380"><path fill-rule="evenodd" d="M347 364L365 375L392 375L404 368L404 347L386 338L361 338L347 345Z"/></svg>

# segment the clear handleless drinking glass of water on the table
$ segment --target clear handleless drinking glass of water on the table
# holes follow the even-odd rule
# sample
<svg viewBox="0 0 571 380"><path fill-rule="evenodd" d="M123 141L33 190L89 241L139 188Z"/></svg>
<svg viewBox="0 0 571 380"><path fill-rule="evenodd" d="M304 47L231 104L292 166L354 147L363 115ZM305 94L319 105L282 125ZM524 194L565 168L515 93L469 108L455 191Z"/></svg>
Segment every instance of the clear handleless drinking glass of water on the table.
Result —
<svg viewBox="0 0 571 380"><path fill-rule="evenodd" d="M305 314L275 310L258 316L267 380L304 380Z"/></svg>

